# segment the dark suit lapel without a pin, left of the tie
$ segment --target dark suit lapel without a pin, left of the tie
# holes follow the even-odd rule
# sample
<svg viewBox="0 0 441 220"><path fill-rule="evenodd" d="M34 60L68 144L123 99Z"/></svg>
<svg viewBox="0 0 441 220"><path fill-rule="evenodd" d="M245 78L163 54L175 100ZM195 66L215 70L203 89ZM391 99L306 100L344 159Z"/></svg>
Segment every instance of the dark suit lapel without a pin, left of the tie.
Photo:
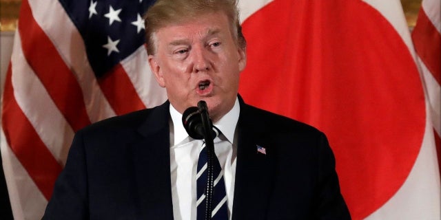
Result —
<svg viewBox="0 0 441 220"><path fill-rule="evenodd" d="M152 109L132 145L141 219L173 219L169 102Z"/></svg>

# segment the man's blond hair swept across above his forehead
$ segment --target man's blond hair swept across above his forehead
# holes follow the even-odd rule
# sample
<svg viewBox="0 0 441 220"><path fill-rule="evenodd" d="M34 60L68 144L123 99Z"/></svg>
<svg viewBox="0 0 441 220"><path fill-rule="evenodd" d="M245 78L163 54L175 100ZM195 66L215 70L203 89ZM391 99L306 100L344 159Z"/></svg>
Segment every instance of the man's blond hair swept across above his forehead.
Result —
<svg viewBox="0 0 441 220"><path fill-rule="evenodd" d="M245 50L247 43L240 26L237 0L158 0L144 15L147 53L153 55L156 52L154 33L158 29L212 12L227 15L236 44Z"/></svg>

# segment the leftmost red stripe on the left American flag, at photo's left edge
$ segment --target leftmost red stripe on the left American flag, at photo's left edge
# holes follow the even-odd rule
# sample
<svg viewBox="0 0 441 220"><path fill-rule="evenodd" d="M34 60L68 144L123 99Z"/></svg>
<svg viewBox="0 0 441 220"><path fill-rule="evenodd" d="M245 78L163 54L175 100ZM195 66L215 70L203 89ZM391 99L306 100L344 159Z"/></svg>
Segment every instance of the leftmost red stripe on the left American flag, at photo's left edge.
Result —
<svg viewBox="0 0 441 220"><path fill-rule="evenodd" d="M55 180L61 173L62 167L41 141L17 104L11 75L10 66L3 93L2 126L6 141L44 197L50 199Z"/></svg>

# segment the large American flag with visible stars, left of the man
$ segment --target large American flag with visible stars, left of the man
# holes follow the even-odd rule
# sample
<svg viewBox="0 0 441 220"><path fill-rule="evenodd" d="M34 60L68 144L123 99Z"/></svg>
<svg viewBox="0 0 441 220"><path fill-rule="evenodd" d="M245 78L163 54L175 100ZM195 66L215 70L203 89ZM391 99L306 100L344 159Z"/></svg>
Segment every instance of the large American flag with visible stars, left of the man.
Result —
<svg viewBox="0 0 441 220"><path fill-rule="evenodd" d="M147 65L153 1L22 1L1 153L15 219L39 219L75 131L165 101Z"/></svg>

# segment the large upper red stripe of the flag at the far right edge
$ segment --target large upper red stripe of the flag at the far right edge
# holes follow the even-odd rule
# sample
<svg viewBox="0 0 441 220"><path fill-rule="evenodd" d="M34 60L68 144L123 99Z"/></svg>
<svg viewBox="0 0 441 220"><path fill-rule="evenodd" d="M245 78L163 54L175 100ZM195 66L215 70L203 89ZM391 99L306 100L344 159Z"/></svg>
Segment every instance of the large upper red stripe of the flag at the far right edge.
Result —
<svg viewBox="0 0 441 220"><path fill-rule="evenodd" d="M441 34L422 9L412 32L412 39L418 56L441 85Z"/></svg>

